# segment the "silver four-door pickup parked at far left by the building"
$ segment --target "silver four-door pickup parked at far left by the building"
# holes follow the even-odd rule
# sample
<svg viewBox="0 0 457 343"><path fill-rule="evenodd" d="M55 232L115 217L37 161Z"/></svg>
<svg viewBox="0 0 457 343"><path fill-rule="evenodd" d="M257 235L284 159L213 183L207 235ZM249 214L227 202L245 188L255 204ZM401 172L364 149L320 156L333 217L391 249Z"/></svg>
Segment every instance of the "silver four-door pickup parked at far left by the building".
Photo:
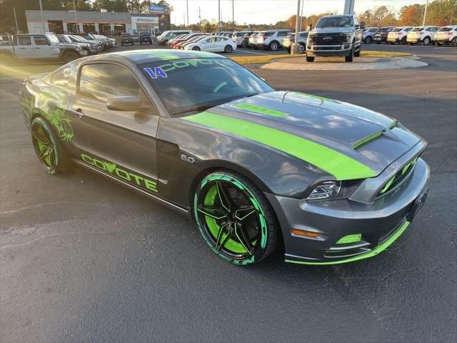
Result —
<svg viewBox="0 0 457 343"><path fill-rule="evenodd" d="M81 46L61 43L54 34L14 34L0 45L0 59L6 62L59 60L68 63L87 56Z"/></svg>

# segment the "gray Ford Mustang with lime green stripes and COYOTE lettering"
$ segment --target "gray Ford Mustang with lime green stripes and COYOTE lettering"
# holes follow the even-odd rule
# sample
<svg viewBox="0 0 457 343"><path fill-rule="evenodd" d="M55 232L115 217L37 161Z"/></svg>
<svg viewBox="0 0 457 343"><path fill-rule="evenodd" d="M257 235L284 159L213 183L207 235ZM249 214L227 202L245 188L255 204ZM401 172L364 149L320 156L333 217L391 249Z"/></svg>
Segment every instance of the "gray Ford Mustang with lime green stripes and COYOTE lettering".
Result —
<svg viewBox="0 0 457 343"><path fill-rule="evenodd" d="M428 192L426 141L395 119L266 82L223 56L89 56L20 89L39 163L74 162L189 214L219 257L246 265L382 252ZM172 242L170 242L172 244Z"/></svg>

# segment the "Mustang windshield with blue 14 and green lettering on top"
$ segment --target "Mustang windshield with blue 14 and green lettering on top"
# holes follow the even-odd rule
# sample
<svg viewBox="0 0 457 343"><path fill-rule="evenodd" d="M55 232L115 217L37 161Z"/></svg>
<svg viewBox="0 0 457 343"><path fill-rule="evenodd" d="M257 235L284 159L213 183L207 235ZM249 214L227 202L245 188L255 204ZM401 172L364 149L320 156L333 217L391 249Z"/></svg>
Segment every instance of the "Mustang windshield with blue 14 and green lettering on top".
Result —
<svg viewBox="0 0 457 343"><path fill-rule="evenodd" d="M204 111L234 99L273 91L231 59L158 61L139 68L173 115Z"/></svg>

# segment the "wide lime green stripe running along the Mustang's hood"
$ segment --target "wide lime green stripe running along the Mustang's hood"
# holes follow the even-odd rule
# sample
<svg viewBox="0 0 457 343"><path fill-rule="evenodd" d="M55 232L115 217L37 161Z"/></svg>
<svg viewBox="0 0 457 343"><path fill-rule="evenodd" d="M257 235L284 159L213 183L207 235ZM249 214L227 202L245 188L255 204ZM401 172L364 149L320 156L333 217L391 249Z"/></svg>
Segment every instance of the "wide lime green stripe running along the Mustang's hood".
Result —
<svg viewBox="0 0 457 343"><path fill-rule="evenodd" d="M183 119L271 146L318 166L318 168L332 174L337 180L376 177L373 170L355 159L287 132L209 112L186 116Z"/></svg>

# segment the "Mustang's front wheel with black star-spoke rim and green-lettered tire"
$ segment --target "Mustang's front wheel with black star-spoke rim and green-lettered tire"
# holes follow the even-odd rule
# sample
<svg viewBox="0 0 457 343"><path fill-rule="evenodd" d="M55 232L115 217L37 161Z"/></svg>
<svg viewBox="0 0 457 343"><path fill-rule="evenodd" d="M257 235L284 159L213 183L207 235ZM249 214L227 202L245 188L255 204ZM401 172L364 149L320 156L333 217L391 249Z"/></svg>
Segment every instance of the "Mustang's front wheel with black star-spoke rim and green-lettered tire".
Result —
<svg viewBox="0 0 457 343"><path fill-rule="evenodd" d="M192 204L201 236L222 259L255 264L276 248L279 234L273 209L248 178L228 171L206 175Z"/></svg>

